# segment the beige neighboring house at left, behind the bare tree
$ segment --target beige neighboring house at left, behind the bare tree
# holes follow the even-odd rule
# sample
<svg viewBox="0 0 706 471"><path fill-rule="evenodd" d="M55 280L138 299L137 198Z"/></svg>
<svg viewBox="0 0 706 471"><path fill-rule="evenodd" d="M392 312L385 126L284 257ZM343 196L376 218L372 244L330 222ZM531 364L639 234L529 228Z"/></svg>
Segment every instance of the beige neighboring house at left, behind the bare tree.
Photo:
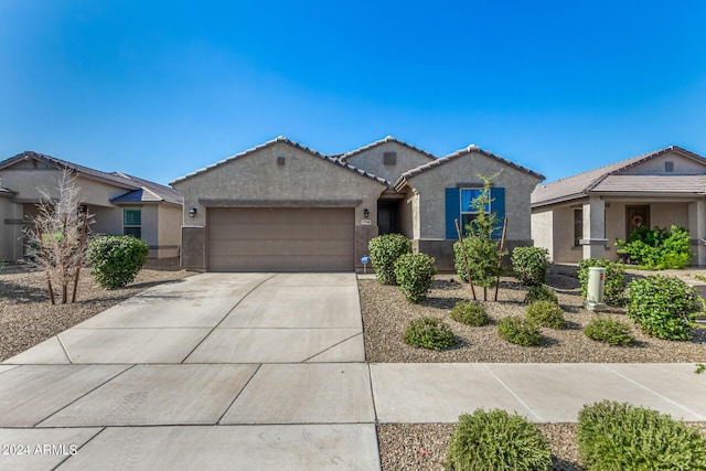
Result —
<svg viewBox="0 0 706 471"><path fill-rule="evenodd" d="M64 170L75 175L81 203L94 215L92 233L141 238L151 258L179 256L182 197L172 188L23 152L0 162L0 260L24 256L23 228L38 214L42 191L57 197Z"/></svg>

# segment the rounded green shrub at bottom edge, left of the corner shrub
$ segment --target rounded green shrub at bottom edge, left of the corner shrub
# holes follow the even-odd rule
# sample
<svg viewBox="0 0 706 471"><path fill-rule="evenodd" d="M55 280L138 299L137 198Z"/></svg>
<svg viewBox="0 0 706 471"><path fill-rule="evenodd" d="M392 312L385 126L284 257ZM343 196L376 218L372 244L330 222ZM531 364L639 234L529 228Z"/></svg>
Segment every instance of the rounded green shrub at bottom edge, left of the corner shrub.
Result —
<svg viewBox="0 0 706 471"><path fill-rule="evenodd" d="M536 425L516 414L463 414L449 441L447 467L466 470L550 470L549 445Z"/></svg>

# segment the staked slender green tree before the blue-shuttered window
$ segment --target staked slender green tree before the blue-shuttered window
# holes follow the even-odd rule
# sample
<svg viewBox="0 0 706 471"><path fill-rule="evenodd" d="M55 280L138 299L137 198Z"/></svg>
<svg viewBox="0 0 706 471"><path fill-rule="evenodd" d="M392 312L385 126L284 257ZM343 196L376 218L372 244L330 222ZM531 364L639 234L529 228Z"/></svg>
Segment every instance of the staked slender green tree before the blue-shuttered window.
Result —
<svg viewBox="0 0 706 471"><path fill-rule="evenodd" d="M502 269L501 258L507 254L507 250L500 249L500 240L494 237L500 226L498 213L489 213L486 211L486 207L493 201L490 196L490 188L493 179L499 174L495 173L492 176L478 175L483 181L483 191L471 202L475 218L466 226L467 235L463 239L473 282L483 287L483 300L488 300L488 288L498 281ZM457 242L453 245L457 268L459 266L463 267L466 265L464 260L458 259L460 255L462 256L461 243ZM466 270L462 271L464 272ZM463 278L461 271L459 271L459 275Z"/></svg>

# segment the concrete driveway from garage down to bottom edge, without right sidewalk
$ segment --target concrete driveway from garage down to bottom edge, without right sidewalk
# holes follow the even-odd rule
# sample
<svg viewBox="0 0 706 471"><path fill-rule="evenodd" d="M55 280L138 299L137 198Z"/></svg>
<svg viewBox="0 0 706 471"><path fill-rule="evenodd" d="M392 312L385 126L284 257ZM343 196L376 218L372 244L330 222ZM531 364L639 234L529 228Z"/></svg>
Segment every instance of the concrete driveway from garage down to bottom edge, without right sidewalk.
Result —
<svg viewBox="0 0 706 471"><path fill-rule="evenodd" d="M0 364L0 468L379 469L364 360L354 274L162 285Z"/></svg>

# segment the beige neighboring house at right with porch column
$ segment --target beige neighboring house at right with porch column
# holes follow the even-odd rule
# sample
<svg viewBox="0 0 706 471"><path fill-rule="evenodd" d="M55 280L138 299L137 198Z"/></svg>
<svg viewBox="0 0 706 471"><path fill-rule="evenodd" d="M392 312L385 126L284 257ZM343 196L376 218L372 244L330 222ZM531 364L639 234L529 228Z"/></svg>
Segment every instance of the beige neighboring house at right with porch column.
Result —
<svg viewBox="0 0 706 471"><path fill-rule="evenodd" d="M618 259L616 239L640 225L689 229L706 265L706 159L676 146L539 185L532 238L558 263Z"/></svg>

